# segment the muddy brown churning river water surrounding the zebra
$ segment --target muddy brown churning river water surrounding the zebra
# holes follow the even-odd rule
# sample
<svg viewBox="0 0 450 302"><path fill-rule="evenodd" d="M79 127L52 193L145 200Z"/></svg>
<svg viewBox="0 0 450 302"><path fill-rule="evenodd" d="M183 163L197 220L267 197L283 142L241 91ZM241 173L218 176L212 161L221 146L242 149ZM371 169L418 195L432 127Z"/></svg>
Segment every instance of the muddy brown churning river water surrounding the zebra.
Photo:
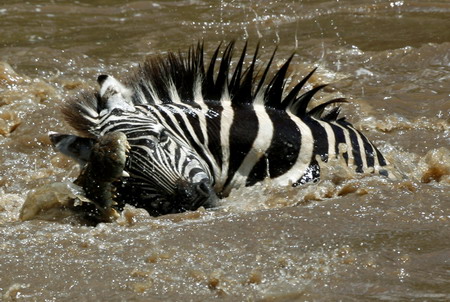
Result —
<svg viewBox="0 0 450 302"><path fill-rule="evenodd" d="M450 300L449 1L3 1L0 300ZM235 190L215 210L81 224L48 131L98 74L204 40L293 51L403 175ZM254 48L250 47L253 51ZM27 196L29 220L19 218ZM64 195L66 194L66 195ZM35 206L33 208L33 205Z"/></svg>

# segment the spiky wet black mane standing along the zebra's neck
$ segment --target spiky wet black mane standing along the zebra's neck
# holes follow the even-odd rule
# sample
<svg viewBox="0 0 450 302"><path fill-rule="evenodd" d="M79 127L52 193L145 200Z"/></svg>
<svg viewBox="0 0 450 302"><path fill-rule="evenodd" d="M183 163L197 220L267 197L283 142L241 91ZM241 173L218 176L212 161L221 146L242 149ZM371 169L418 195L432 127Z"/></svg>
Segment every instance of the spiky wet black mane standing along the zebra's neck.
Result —
<svg viewBox="0 0 450 302"><path fill-rule="evenodd" d="M223 95L227 94L233 105L253 104L262 99L266 107L289 111L299 117L313 116L323 120L338 118L339 107L333 108L324 116L322 114L328 105L346 102L343 98L327 101L307 111L313 96L326 85L316 86L299 95L317 68L286 93L287 71L294 55L267 80L276 49L261 72L257 70L259 45L249 65L244 66L247 54L245 43L236 66L231 70L234 44L230 42L226 45L220 58L222 45L219 44L207 67L203 43L191 47L186 54L169 52L165 56L148 57L126 83L126 86L133 87L135 92L133 103L170 104L175 102L175 95L182 103L192 104L197 101L196 95L200 91L205 103L220 102Z"/></svg>

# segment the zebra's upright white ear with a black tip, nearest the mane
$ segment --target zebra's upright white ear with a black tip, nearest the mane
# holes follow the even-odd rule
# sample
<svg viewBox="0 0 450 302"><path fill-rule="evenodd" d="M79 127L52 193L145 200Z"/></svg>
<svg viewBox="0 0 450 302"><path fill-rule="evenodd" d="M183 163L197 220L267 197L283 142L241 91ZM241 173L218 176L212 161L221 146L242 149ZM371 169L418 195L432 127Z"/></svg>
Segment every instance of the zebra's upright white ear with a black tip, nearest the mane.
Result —
<svg viewBox="0 0 450 302"><path fill-rule="evenodd" d="M110 75L100 75L97 78L100 85L101 108L100 115L118 108L123 111L135 111L131 101L132 92Z"/></svg>

